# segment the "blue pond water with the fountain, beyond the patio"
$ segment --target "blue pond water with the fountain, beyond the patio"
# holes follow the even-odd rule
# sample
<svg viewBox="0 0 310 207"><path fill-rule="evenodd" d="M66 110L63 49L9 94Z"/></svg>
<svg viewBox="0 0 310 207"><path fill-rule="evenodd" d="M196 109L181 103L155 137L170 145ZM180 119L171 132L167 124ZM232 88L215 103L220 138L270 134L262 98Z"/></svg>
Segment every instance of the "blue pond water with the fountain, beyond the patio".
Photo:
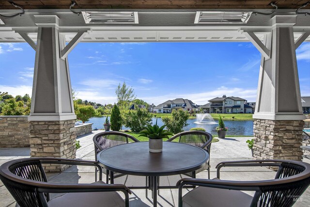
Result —
<svg viewBox="0 0 310 207"><path fill-rule="evenodd" d="M103 123L105 122L106 117L94 117L91 118L86 123L93 123L93 129L101 129L103 128ZM155 124L156 118L153 118L153 123ZM217 134L215 128L217 127L218 121L214 121L214 124L205 124L199 123L198 119L188 119L187 127L184 127L184 130L187 131L193 127L202 127L207 132L211 134ZM229 128L227 131L227 135L240 135L240 136L253 136L253 121L225 121L225 126ZM157 125L162 126L164 123L161 118L158 118ZM129 129L123 126L122 129Z"/></svg>

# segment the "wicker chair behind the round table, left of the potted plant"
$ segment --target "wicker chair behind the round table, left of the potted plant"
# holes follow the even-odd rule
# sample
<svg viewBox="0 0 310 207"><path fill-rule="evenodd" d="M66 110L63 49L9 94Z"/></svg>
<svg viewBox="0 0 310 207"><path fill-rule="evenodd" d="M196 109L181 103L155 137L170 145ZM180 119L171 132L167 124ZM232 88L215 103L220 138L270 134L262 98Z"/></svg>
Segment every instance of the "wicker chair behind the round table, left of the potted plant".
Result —
<svg viewBox="0 0 310 207"><path fill-rule="evenodd" d="M97 161L97 155L102 150L108 149L112 146L120 144L126 144L130 142L139 142L135 137L119 132L119 131L104 131L96 134L93 137L93 143L95 146L95 160ZM126 159L126 158L124 158ZM103 173L106 174L106 182L109 183L110 172L107 169L102 169ZM97 170L95 170L95 177L97 176ZM143 188L148 188L148 178L137 175L124 175L113 172L114 183L121 183L131 188L139 188L143 185Z"/></svg>

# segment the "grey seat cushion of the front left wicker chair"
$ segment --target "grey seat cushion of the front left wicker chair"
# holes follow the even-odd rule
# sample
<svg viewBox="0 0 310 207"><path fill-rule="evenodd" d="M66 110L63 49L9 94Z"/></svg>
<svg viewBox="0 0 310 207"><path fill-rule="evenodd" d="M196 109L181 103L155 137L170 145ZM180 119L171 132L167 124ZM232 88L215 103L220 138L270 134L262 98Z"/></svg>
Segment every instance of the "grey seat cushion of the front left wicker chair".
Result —
<svg viewBox="0 0 310 207"><path fill-rule="evenodd" d="M124 205L124 199L117 192L70 192L48 202L49 207L124 207Z"/></svg>

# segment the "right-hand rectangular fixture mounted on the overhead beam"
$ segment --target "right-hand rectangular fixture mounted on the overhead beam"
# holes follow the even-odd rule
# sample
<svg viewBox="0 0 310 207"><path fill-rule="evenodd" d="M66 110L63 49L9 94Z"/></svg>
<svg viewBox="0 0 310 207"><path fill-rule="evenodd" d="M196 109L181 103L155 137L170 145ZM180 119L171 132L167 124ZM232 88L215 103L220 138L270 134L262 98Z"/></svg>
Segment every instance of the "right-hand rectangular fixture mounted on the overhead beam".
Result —
<svg viewBox="0 0 310 207"><path fill-rule="evenodd" d="M195 24L246 24L252 12L196 12Z"/></svg>

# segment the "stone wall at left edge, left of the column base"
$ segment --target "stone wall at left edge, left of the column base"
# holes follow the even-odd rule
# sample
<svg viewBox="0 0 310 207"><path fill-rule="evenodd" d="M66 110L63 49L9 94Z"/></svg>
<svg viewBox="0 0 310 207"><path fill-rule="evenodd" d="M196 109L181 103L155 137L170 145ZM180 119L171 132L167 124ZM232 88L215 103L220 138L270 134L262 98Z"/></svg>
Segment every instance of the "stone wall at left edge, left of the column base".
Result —
<svg viewBox="0 0 310 207"><path fill-rule="evenodd" d="M29 147L28 116L0 116L0 147Z"/></svg>

